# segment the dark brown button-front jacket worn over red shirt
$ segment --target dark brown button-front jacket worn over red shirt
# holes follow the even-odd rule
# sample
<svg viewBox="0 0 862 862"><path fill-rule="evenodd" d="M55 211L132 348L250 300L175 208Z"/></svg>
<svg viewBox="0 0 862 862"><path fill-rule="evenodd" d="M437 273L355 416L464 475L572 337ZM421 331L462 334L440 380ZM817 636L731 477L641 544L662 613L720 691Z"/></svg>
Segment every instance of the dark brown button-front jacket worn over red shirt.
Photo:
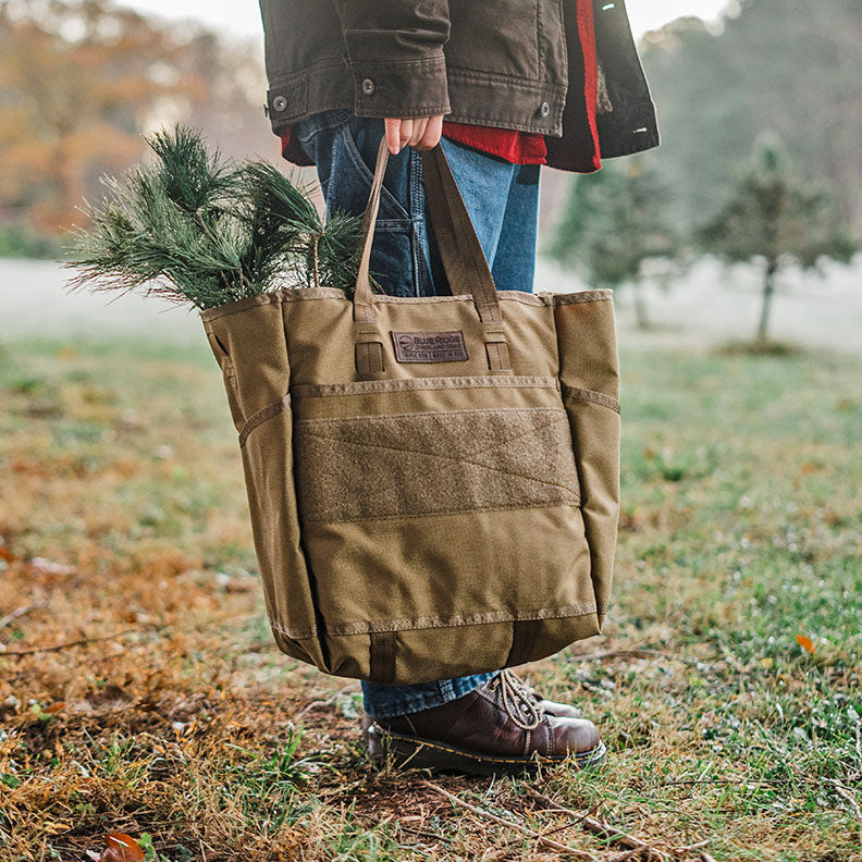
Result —
<svg viewBox="0 0 862 862"><path fill-rule="evenodd" d="M591 12L602 157L658 144L623 0L260 0L260 9L276 134L331 108L445 114L542 133L549 164L594 170L580 38ZM298 147L285 155L308 163Z"/></svg>

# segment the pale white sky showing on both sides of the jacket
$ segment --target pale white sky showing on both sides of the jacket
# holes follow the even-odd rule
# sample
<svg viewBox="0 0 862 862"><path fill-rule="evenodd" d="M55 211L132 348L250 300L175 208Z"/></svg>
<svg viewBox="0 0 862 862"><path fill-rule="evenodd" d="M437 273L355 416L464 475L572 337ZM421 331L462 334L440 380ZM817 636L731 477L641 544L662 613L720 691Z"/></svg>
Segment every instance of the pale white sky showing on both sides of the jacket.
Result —
<svg viewBox="0 0 862 862"><path fill-rule="evenodd" d="M639 37L645 30L661 27L680 15L700 15L707 21L715 19L726 4L727 0L629 0L627 7L631 28ZM236 36L260 34L260 12L255 0L121 0L121 5L164 17L197 19Z"/></svg>

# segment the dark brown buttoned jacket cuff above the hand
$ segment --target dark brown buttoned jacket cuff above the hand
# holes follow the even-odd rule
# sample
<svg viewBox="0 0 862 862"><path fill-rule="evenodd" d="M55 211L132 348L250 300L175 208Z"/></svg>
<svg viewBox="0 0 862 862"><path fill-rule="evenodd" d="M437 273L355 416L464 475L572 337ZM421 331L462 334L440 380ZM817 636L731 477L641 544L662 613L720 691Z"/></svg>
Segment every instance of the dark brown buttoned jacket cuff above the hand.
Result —
<svg viewBox="0 0 862 862"><path fill-rule="evenodd" d="M451 112L446 84L446 60L398 60L383 63L350 63L354 113L357 116L405 119L436 116Z"/></svg>

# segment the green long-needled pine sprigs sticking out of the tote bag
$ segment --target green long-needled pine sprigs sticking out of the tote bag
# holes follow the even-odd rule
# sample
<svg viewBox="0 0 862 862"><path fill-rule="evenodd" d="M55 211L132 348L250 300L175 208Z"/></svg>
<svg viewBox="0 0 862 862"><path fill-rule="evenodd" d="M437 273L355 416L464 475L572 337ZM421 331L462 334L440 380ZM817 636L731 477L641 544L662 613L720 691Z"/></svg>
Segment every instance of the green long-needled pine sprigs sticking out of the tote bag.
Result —
<svg viewBox="0 0 862 862"><path fill-rule="evenodd" d="M273 165L209 152L182 126L148 139L155 161L103 180L85 209L67 264L73 288L137 291L196 308L324 284L349 292L360 219L324 223L308 196Z"/></svg>

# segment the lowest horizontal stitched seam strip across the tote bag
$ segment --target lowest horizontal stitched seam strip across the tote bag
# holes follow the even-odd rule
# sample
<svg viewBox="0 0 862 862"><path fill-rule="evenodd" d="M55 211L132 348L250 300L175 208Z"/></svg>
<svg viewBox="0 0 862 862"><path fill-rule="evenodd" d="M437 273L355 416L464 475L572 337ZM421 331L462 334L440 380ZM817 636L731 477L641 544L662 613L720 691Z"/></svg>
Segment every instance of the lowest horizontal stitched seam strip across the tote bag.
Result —
<svg viewBox="0 0 862 862"><path fill-rule="evenodd" d="M595 602L581 602L575 605L563 605L561 607L542 607L537 611L488 611L483 614L456 614L456 615L433 615L424 617L408 617L404 619L387 619L379 621L356 621L341 623L325 626L327 635L353 636L371 635L384 631L421 631L429 628L459 628L464 626L489 626L504 623L519 623L533 619L568 619L590 614L602 614L607 609L607 605L596 604ZM308 640L320 635L320 629L313 628L292 628L278 620L270 620L270 625L281 635L285 635L294 640Z"/></svg>

